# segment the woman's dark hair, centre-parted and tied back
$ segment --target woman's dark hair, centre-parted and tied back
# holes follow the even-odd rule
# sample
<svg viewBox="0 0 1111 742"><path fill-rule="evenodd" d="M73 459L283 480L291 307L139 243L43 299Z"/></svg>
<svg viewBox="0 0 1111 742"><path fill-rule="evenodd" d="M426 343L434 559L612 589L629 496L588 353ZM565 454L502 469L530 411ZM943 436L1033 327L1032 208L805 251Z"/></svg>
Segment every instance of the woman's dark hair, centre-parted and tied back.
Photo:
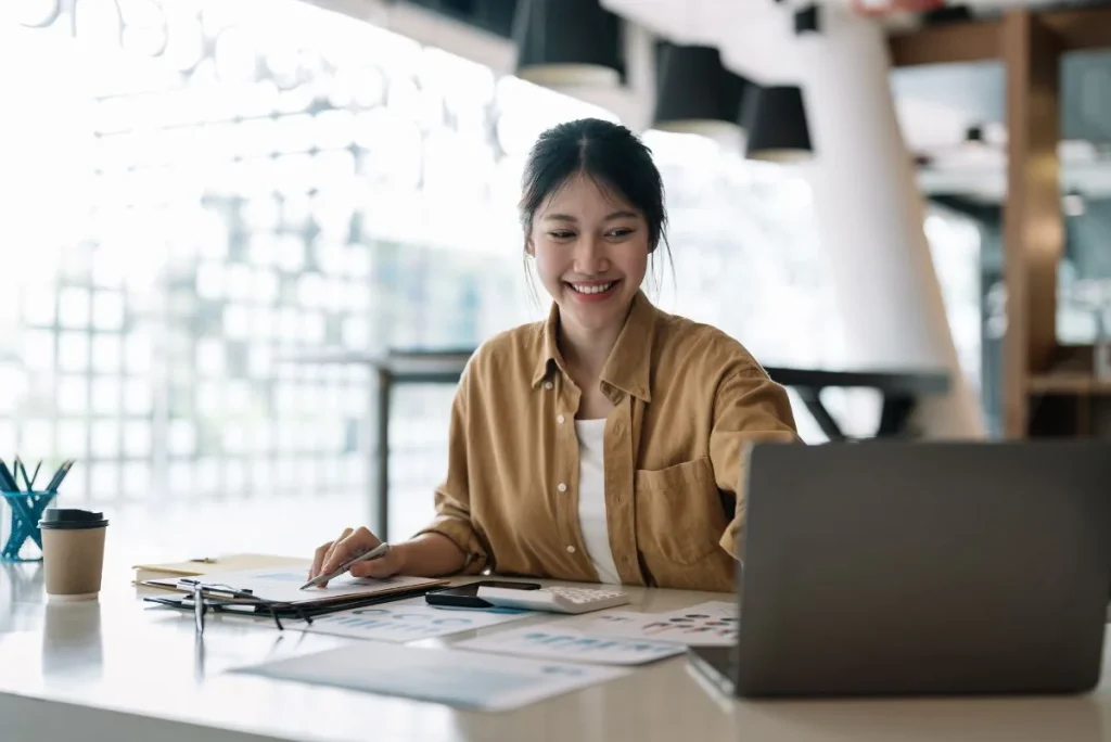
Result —
<svg viewBox="0 0 1111 742"><path fill-rule="evenodd" d="M663 179L652 151L625 127L602 119L578 119L548 129L529 152L521 179L521 227L528 234L540 204L578 173L611 190L640 210L648 222L648 249L663 243L668 257L668 212Z"/></svg>

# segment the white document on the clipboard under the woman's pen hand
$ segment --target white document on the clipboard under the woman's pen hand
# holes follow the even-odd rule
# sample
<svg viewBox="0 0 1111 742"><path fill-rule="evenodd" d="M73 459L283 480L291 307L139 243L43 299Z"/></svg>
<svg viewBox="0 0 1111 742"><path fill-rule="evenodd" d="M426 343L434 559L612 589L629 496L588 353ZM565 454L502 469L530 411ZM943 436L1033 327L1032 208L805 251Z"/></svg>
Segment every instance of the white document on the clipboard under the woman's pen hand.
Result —
<svg viewBox="0 0 1111 742"><path fill-rule="evenodd" d="M142 584L188 593L194 589L194 581L199 581L204 588L230 588L237 591L250 592L259 601L291 606L343 603L350 600L386 596L393 593L401 596L413 592L423 592L449 583L448 580L429 578L396 575L383 580L373 580L370 578L353 578L347 574L332 580L328 583L328 586L300 590L300 586L304 584L304 570L277 568L241 570L237 572L212 572L200 578L148 580Z"/></svg>

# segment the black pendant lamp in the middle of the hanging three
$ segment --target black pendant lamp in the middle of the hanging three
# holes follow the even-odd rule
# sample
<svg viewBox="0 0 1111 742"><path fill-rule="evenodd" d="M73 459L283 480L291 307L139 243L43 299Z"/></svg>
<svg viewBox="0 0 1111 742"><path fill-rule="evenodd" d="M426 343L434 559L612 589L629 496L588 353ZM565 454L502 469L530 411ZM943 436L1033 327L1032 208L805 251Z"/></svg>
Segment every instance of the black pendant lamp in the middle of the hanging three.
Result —
<svg viewBox="0 0 1111 742"><path fill-rule="evenodd" d="M655 80L654 129L715 139L740 137L748 81L722 66L715 48L660 43Z"/></svg>

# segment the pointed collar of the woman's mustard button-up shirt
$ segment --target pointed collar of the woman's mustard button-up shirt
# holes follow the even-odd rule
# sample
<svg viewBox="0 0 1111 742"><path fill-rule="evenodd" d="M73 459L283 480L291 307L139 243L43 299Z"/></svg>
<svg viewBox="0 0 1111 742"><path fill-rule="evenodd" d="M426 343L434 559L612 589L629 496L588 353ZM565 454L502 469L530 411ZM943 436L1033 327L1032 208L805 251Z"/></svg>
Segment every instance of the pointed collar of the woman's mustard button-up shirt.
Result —
<svg viewBox="0 0 1111 742"><path fill-rule="evenodd" d="M601 381L644 402L652 400L650 372L658 313L644 292L638 291L629 307L629 314L613 344L613 350L602 367ZM548 312L541 333L540 358L532 375L533 389L548 379L552 364L567 373L563 355L559 352L559 305L554 302Z"/></svg>

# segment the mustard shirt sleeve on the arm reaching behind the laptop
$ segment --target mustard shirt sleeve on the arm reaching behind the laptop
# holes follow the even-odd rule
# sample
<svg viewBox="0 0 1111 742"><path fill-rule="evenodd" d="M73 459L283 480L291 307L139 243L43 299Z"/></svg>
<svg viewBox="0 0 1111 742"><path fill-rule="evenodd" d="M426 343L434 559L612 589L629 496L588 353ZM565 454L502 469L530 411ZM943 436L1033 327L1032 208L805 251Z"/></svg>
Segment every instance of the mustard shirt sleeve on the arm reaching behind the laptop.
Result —
<svg viewBox="0 0 1111 742"><path fill-rule="evenodd" d="M714 400L710 460L718 489L735 495L733 519L721 535L721 548L734 559L744 553L744 461L753 443L799 443L787 390L763 369L741 369L727 377Z"/></svg>

